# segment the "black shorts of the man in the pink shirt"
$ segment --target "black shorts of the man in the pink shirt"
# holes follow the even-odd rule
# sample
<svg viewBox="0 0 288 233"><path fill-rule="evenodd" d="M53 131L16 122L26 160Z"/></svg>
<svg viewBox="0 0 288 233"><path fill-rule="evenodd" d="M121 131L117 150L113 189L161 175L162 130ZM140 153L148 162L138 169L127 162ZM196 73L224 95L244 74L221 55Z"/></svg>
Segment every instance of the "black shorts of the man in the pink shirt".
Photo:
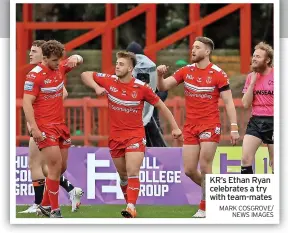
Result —
<svg viewBox="0 0 288 233"><path fill-rule="evenodd" d="M252 116L246 134L260 138L264 144L274 144L274 117Z"/></svg>

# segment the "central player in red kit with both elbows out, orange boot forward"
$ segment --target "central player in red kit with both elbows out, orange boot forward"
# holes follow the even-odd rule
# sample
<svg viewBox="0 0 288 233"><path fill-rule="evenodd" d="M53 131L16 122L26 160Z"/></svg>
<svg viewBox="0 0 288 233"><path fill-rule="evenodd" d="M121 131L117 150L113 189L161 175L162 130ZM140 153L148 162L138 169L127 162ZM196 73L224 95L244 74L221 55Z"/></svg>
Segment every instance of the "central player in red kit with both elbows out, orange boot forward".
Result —
<svg viewBox="0 0 288 233"><path fill-rule="evenodd" d="M132 76L135 65L135 54L118 52L116 75L89 71L81 75L85 85L93 88L97 95L108 95L109 148L127 203L127 208L121 212L126 218L136 217L135 205L140 188L139 172L146 145L142 121L144 101L159 108L172 126L175 139L182 135L166 105L147 84Z"/></svg>

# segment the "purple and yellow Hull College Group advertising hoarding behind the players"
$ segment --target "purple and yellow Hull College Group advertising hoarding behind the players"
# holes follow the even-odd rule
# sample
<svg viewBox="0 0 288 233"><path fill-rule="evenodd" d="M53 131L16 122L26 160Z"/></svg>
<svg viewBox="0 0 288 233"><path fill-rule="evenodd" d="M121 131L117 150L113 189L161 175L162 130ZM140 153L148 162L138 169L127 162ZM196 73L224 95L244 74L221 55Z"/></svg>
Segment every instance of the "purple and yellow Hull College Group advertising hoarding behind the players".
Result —
<svg viewBox="0 0 288 233"><path fill-rule="evenodd" d="M220 147L217 153L219 156L215 156L213 163L214 173L215 170L216 173L222 174L235 173L236 168L240 169L240 148ZM228 154L234 158L228 159ZM16 148L17 204L31 204L34 200L27 155L28 148ZM267 173L267 158L261 158L257 163L257 173ZM74 186L81 187L85 192L81 199L82 205L124 203L119 176L108 148L70 148L68 168L64 175ZM141 167L140 182L138 204L194 205L200 201L200 187L184 173L182 148L147 148ZM63 188L60 188L59 198L61 204L70 204L68 194Z"/></svg>

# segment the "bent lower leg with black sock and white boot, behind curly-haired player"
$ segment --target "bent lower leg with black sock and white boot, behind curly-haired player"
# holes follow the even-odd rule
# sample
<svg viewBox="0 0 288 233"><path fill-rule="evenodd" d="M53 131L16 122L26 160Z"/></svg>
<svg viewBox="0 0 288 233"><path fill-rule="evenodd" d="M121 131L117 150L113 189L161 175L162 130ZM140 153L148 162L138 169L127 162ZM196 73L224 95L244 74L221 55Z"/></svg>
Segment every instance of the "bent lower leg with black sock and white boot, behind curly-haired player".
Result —
<svg viewBox="0 0 288 233"><path fill-rule="evenodd" d="M69 199L72 205L72 212L77 211L79 206L81 205L81 197L83 196L84 192L79 187L74 187L69 180L62 175L67 169L67 160L68 160L68 149L63 148L60 150L62 156L62 166L61 166L61 177L60 177L60 185L67 191L69 194Z"/></svg>

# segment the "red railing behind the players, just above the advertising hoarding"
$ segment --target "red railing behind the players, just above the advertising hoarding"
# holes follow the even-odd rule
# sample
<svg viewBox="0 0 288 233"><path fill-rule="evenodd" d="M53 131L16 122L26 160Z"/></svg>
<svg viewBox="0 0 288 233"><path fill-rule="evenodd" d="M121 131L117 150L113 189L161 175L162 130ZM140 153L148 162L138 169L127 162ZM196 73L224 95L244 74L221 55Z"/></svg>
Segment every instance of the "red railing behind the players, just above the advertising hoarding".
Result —
<svg viewBox="0 0 288 233"><path fill-rule="evenodd" d="M240 99L234 99L234 103L237 110L240 135L243 136L250 111L243 108ZM169 107L178 125L182 128L185 119L185 100L181 97L174 97L166 100L165 104ZM73 143L85 146L107 146L109 135L107 99L67 99L64 102L64 106L66 122L70 128ZM17 99L16 109L16 114L19 116L17 124L19 124L21 129L20 134L16 134L16 141L27 141L29 136L22 110L22 99ZM221 140L228 144L230 140L230 122L222 101L219 101L219 109L222 122ZM180 146L178 141L172 139L170 126L161 116L160 123L168 144L170 146Z"/></svg>

